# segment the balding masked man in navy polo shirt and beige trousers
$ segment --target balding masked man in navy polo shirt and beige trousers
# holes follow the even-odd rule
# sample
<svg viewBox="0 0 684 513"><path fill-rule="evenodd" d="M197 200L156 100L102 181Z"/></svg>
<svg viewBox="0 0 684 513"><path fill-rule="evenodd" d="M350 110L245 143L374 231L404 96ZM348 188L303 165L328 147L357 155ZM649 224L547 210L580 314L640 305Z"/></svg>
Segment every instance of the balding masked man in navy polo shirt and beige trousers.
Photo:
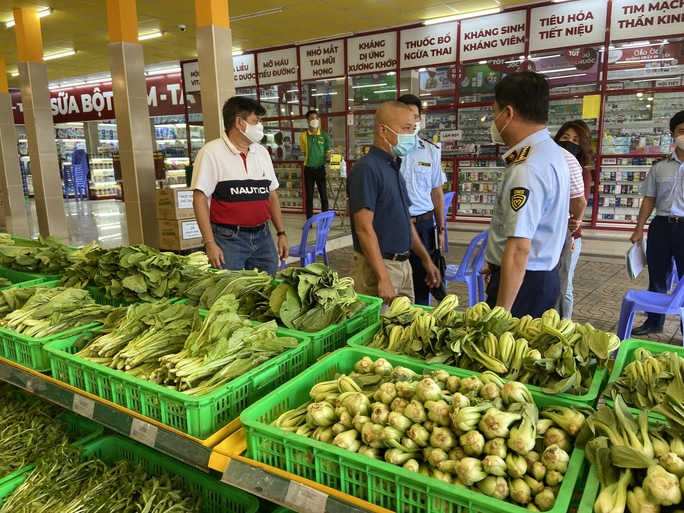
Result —
<svg viewBox="0 0 684 513"><path fill-rule="evenodd" d="M415 146L413 112L404 103L385 102L374 125L373 145L347 179L354 243L351 277L359 294L380 297L385 304L396 296L414 302L411 251L425 268L428 286L437 286L440 274L411 222L411 202L399 173L401 157Z"/></svg>

